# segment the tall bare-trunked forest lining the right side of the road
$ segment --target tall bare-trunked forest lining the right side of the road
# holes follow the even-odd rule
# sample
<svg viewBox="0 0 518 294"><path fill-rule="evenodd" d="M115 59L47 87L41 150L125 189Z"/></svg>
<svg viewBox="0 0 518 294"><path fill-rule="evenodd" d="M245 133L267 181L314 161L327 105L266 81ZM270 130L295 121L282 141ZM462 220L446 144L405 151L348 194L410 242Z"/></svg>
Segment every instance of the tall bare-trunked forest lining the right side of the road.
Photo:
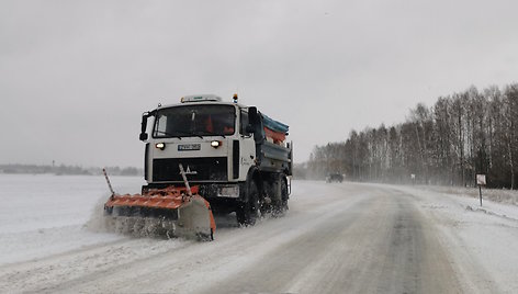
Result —
<svg viewBox="0 0 518 294"><path fill-rule="evenodd" d="M475 87L409 111L406 122L352 131L341 143L316 146L307 177L331 172L350 180L517 189L518 83ZM412 174L415 178L412 179Z"/></svg>

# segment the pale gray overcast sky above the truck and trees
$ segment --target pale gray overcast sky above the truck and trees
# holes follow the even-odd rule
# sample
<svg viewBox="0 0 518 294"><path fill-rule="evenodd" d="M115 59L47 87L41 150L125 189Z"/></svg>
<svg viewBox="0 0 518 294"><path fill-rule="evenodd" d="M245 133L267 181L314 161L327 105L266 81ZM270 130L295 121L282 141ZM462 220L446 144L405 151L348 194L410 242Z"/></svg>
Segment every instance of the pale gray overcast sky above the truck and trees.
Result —
<svg viewBox="0 0 518 294"><path fill-rule="evenodd" d="M140 113L215 93L290 125L295 161L418 102L516 82L518 2L0 2L0 163L136 166Z"/></svg>

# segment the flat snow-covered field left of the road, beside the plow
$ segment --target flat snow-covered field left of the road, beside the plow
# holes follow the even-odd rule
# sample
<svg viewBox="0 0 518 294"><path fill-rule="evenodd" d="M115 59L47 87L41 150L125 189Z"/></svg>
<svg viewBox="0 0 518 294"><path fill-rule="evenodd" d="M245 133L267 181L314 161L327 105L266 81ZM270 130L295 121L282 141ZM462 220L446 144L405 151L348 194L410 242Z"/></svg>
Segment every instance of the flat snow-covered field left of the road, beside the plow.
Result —
<svg viewBox="0 0 518 294"><path fill-rule="evenodd" d="M115 191L137 193L142 178L113 177ZM0 265L121 239L87 223L108 199L103 177L0 174Z"/></svg>

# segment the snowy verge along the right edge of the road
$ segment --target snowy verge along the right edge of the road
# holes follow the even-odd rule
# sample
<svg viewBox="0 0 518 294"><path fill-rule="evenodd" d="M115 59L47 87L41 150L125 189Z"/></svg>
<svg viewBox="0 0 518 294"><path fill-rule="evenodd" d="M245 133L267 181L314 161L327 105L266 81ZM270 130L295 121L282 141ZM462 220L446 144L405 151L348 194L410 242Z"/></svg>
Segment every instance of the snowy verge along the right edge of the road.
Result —
<svg viewBox="0 0 518 294"><path fill-rule="evenodd" d="M477 197L466 189L439 192L423 186L384 185L414 195L424 213L436 220L442 246L450 251L451 262L462 276L465 289L488 293L518 293L518 206ZM508 191L504 191L508 192ZM492 195L499 195L492 191ZM500 194L502 195L502 194Z"/></svg>

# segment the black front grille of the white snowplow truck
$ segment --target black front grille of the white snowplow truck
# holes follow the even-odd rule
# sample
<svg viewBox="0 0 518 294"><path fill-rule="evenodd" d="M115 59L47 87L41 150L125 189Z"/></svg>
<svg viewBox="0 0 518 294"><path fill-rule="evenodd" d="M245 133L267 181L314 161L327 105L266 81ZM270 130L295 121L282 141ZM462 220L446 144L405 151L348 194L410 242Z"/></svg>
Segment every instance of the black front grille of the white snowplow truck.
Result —
<svg viewBox="0 0 518 294"><path fill-rule="evenodd" d="M227 181L226 157L166 158L153 160L153 181L183 181L178 165L182 163L191 181Z"/></svg>

